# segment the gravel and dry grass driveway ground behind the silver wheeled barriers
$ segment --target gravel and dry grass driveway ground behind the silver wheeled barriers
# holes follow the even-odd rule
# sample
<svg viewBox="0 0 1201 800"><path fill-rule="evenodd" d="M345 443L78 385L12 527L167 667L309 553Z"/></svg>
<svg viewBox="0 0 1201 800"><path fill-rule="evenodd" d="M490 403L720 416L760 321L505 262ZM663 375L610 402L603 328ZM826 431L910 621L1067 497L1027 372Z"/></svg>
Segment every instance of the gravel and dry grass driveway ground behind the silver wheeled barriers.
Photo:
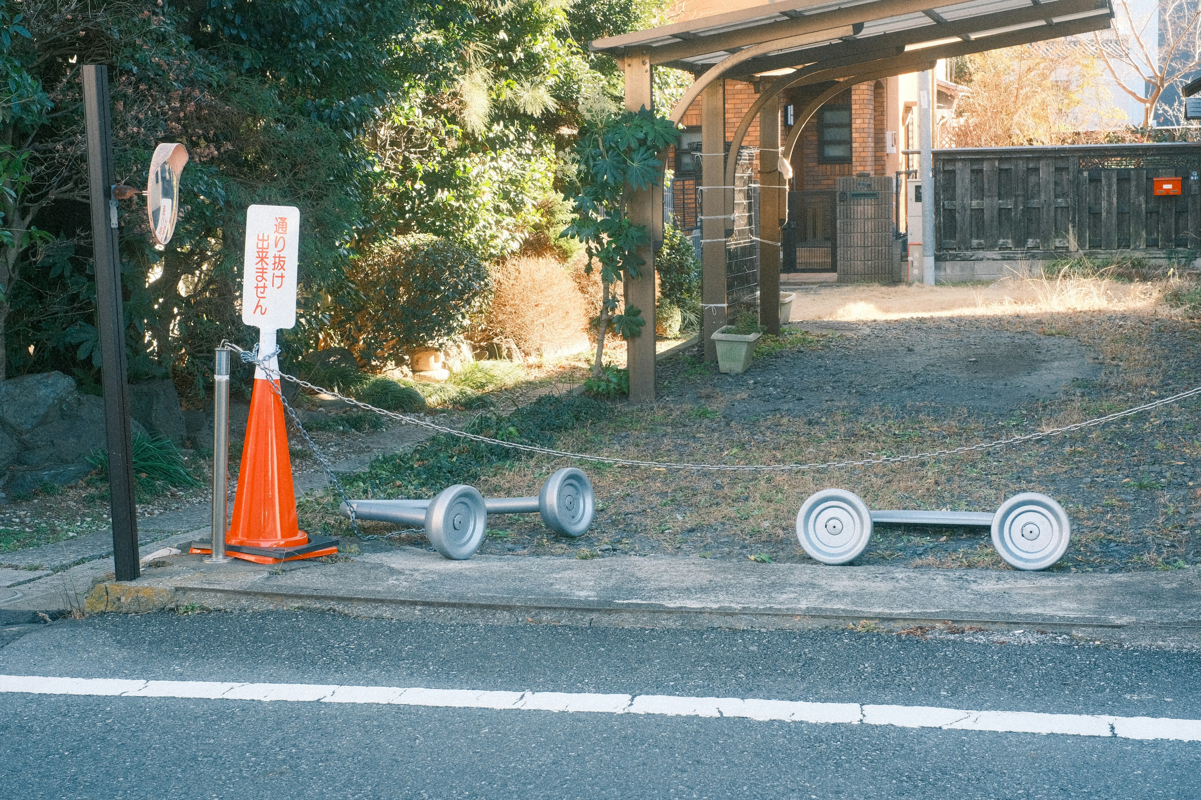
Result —
<svg viewBox="0 0 1201 800"><path fill-rule="evenodd" d="M806 345L721 375L695 357L661 365L659 404L622 406L573 431L574 452L703 464L831 461L916 453L1047 430L1195 384L1193 324L1060 314L807 326ZM805 562L801 501L850 489L872 508L993 511L1018 491L1056 497L1072 545L1053 569L1172 569L1201 561L1201 404L1028 444L901 465L791 473L667 472L581 464L593 529L556 538L536 517L490 520L483 551L614 557L647 553ZM488 496L536 494L560 462L486 476ZM366 525L374 535L396 533ZM420 543L418 532L389 542ZM884 526L856 563L1009 568L987 529Z"/></svg>

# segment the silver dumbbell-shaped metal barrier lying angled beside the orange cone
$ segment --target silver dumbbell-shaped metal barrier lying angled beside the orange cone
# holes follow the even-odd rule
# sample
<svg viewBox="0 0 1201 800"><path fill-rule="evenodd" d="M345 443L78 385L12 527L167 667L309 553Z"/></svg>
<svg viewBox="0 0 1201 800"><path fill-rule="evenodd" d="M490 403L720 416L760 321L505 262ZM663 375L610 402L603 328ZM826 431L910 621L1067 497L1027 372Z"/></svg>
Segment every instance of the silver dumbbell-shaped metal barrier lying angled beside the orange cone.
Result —
<svg viewBox="0 0 1201 800"><path fill-rule="evenodd" d="M355 519L424 527L430 544L447 559L470 559L479 549L488 514L538 513L550 530L578 537L588 530L596 513L592 483L575 467L546 478L537 497L484 498L471 486L455 485L434 500L352 500L343 502L339 513L349 518L352 506Z"/></svg>

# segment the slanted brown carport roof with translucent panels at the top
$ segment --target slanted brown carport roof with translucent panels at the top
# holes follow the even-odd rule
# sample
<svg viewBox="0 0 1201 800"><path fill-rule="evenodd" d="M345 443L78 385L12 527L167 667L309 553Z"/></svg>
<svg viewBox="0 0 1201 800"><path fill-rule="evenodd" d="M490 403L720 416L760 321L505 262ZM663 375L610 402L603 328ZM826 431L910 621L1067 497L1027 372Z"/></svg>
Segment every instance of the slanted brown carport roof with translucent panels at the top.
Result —
<svg viewBox="0 0 1201 800"><path fill-rule="evenodd" d="M981 52L1008 46L1014 34L1035 42L1100 30L1112 17L1110 0L967 0L942 6L930 0L783 0L611 36L590 47L614 56L645 52L651 64L694 73L752 48L754 53L730 59L737 64L723 70L736 78L924 49L932 58L942 58L940 49ZM999 37L996 44L987 41L992 37ZM943 47L948 44L956 47Z"/></svg>

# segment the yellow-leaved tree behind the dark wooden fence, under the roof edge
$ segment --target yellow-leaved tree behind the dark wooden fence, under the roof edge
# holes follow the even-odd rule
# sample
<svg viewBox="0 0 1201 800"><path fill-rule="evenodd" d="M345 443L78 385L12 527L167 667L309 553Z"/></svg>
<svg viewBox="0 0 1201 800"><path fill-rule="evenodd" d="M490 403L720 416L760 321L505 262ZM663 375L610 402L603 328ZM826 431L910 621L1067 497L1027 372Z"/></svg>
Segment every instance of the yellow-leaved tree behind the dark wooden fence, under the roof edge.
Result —
<svg viewBox="0 0 1201 800"><path fill-rule="evenodd" d="M1089 48L1053 40L957 60L969 91L955 107L955 147L1064 144L1076 131L1107 127L1113 108Z"/></svg>

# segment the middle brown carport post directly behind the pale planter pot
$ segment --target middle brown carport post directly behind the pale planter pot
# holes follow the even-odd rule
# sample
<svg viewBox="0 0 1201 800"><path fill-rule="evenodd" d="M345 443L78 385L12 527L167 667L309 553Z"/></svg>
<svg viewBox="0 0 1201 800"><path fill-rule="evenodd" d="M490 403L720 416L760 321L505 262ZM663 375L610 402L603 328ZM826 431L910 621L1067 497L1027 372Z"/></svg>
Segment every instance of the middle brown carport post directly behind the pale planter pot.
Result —
<svg viewBox="0 0 1201 800"><path fill-rule="evenodd" d="M719 187L725 175L725 82L705 86L700 96L700 239L701 277L700 336L705 360L717 360L717 346L710 339L725 324L725 192ZM731 184L733 185L733 184ZM712 189L707 189L712 187Z"/></svg>

